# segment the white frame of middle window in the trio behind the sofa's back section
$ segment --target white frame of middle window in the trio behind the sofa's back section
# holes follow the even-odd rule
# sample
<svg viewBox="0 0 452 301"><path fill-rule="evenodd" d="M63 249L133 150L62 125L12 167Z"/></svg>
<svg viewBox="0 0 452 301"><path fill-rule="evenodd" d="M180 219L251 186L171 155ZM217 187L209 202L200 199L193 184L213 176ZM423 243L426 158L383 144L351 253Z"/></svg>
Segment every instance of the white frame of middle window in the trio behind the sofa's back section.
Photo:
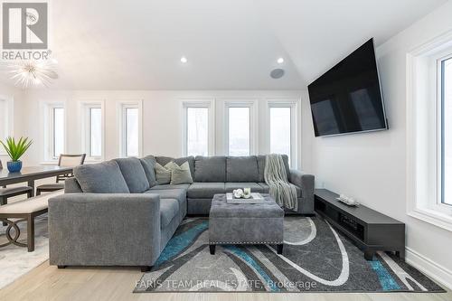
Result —
<svg viewBox="0 0 452 301"><path fill-rule="evenodd" d="M229 109L230 108L250 108L250 155L258 155L258 99L225 99L224 101L224 154L230 155L229 145Z"/></svg>

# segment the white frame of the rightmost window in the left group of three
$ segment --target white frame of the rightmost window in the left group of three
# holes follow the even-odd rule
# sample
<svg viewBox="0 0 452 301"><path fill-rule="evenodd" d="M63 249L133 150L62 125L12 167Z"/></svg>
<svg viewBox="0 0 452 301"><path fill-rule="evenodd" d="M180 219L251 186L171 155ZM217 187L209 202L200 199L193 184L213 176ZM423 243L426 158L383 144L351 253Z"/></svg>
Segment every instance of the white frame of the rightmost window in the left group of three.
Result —
<svg viewBox="0 0 452 301"><path fill-rule="evenodd" d="M138 155L143 155L143 99L118 100L118 154L121 157L134 157L127 155L127 108L138 109Z"/></svg>

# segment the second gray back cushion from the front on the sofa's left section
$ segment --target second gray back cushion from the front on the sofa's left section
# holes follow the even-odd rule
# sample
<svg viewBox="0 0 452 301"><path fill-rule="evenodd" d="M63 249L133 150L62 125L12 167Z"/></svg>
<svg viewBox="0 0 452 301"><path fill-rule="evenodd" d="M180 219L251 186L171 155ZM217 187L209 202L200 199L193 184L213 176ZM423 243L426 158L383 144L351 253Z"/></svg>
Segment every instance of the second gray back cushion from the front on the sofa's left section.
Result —
<svg viewBox="0 0 452 301"><path fill-rule="evenodd" d="M150 188L145 169L137 158L118 158L115 161L119 165L124 180L126 180L130 193L143 193Z"/></svg>

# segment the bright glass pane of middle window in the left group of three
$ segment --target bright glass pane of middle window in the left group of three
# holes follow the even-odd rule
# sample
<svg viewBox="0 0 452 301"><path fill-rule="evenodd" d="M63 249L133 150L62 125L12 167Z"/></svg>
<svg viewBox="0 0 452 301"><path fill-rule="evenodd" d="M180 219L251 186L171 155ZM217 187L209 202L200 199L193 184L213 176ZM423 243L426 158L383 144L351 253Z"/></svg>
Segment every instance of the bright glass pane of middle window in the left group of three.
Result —
<svg viewBox="0 0 452 301"><path fill-rule="evenodd" d="M89 156L102 155L102 109L88 108Z"/></svg>

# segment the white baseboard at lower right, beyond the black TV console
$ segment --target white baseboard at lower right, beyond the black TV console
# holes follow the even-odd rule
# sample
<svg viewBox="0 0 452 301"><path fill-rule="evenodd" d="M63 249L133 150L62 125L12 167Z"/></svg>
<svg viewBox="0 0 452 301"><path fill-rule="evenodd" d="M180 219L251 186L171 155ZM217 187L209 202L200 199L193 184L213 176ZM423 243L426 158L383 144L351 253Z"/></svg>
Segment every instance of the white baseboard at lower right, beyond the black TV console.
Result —
<svg viewBox="0 0 452 301"><path fill-rule="evenodd" d="M406 261L414 268L418 268L421 272L425 273L428 277L431 277L439 284L443 285L444 288L452 288L452 271L443 268L435 261L426 258L425 256L419 254L414 249L406 249Z"/></svg>

